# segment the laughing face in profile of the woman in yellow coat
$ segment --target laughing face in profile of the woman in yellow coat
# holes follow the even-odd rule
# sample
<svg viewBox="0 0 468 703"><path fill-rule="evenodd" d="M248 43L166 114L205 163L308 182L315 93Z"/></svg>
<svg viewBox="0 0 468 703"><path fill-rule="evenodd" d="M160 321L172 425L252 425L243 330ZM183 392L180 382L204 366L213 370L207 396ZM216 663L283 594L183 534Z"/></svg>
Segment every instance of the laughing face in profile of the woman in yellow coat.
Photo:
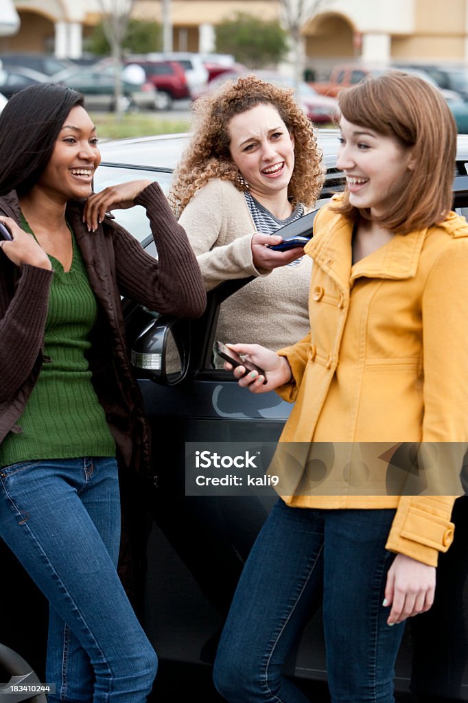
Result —
<svg viewBox="0 0 468 703"><path fill-rule="evenodd" d="M414 167L412 151L394 136L339 122L342 133L337 167L346 175L349 202L381 217L401 195L403 176Z"/></svg>

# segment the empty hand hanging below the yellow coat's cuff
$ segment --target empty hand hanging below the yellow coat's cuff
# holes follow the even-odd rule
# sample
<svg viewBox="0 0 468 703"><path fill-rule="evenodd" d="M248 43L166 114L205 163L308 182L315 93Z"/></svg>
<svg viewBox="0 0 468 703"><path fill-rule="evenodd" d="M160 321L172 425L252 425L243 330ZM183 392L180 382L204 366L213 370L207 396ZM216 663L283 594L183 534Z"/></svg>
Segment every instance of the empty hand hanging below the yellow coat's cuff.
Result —
<svg viewBox="0 0 468 703"><path fill-rule="evenodd" d="M397 554L386 576L384 605L390 606L389 625L429 610L436 591L436 567Z"/></svg>

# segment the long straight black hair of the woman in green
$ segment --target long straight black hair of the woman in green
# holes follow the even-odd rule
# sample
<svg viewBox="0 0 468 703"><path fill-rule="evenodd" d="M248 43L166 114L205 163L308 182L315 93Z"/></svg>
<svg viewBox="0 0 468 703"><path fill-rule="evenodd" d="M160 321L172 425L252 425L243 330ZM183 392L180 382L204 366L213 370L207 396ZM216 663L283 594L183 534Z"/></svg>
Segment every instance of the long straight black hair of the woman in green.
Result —
<svg viewBox="0 0 468 703"><path fill-rule="evenodd" d="M84 107L82 94L56 83L29 86L10 98L0 115L0 195L31 190L77 106Z"/></svg>

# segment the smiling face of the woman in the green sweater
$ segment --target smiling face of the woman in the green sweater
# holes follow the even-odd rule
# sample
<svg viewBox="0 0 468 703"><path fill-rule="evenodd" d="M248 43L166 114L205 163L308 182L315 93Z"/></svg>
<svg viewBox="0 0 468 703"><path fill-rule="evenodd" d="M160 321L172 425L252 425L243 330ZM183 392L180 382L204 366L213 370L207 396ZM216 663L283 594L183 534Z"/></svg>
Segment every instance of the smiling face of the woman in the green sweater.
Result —
<svg viewBox="0 0 468 703"><path fill-rule="evenodd" d="M56 202L88 198L99 164L96 127L84 108L72 108L36 186Z"/></svg>

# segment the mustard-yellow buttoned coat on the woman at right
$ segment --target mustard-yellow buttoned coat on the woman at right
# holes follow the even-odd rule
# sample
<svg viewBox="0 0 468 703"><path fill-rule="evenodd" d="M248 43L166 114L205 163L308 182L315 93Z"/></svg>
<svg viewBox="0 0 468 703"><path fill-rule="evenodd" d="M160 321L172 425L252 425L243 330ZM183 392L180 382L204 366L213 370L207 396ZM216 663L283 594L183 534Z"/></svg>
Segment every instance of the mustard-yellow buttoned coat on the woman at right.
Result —
<svg viewBox="0 0 468 703"><path fill-rule="evenodd" d="M278 352L292 369L278 392L295 401L280 438L294 460L276 457L268 472L297 508L397 508L386 547L436 565L453 540L450 513L463 492L468 445L468 225L450 212L354 265L352 231L326 206L305 247L313 259L311 333ZM403 480L397 467L389 479L399 443L419 447L424 490L408 470ZM311 477L323 458L316 447L325 458L332 447L338 466L321 489Z"/></svg>

